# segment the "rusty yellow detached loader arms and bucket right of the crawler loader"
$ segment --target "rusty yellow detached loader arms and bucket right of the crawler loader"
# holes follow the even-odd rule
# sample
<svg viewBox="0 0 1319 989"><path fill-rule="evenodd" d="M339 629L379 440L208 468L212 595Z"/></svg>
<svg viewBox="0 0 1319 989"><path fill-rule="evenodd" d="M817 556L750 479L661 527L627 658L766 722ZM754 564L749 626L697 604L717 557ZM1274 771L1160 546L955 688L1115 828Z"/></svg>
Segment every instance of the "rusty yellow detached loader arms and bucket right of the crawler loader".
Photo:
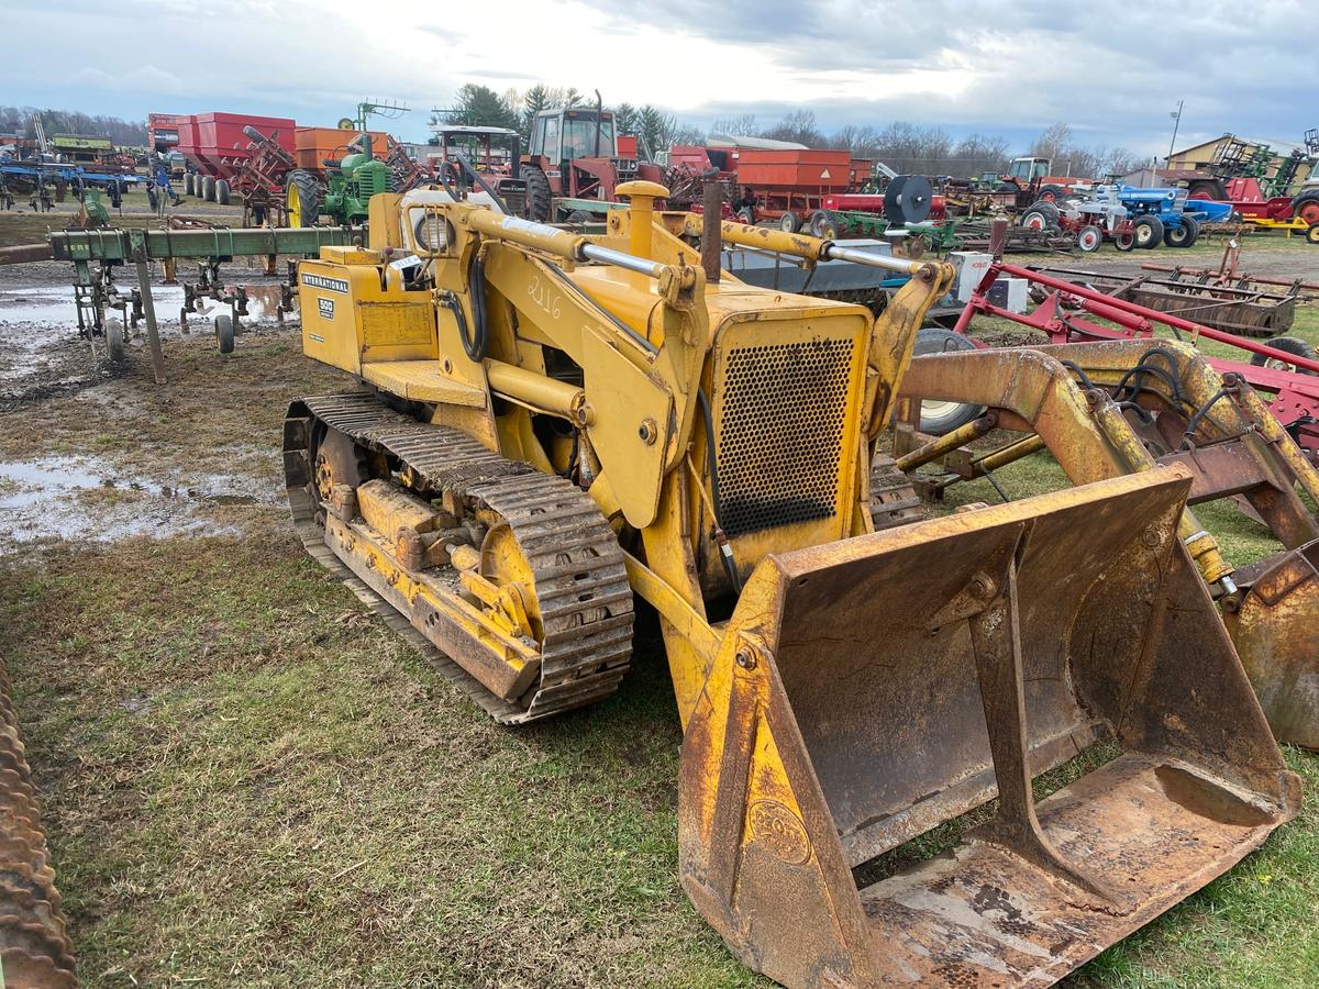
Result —
<svg viewBox="0 0 1319 989"><path fill-rule="evenodd" d="M1047 450L1074 484L1181 464L1190 504L1236 498L1286 550L1244 571L1187 509L1181 535L1213 589L1274 734L1319 749L1319 521L1298 492L1319 498L1319 472L1249 384L1220 377L1190 344L1130 340L1060 344L1039 351L984 349L917 357L904 380L897 465L944 459L954 473L987 476ZM976 430L942 440L918 436L919 398L985 410L988 427L1028 434L977 459L948 454ZM1116 400L1116 401L1115 401ZM925 485L931 491L931 485Z"/></svg>

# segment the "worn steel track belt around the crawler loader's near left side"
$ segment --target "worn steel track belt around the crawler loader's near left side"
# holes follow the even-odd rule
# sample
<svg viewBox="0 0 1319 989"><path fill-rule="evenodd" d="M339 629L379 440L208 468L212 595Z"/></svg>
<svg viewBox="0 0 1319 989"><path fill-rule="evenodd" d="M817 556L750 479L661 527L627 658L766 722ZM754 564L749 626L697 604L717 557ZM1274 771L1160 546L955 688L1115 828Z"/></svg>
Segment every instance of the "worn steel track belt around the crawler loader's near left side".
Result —
<svg viewBox="0 0 1319 989"><path fill-rule="evenodd" d="M539 682L514 702L491 694L363 583L324 542L313 493L318 425L371 454L406 465L433 491L474 498L508 522L532 566L545 638ZM426 654L495 720L521 724L612 694L632 658L632 588L617 537L576 485L508 460L458 430L401 415L369 394L315 396L289 407L285 481L293 522L307 551L386 624Z"/></svg>

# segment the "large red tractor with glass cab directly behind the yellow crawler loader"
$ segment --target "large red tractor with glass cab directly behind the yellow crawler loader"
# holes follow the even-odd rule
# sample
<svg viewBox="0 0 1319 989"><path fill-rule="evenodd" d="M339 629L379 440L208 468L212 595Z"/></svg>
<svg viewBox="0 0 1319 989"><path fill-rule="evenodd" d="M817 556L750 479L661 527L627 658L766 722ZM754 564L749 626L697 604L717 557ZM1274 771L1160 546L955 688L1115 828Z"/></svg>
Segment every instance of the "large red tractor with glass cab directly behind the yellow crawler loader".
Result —
<svg viewBox="0 0 1319 989"><path fill-rule="evenodd" d="M554 223L563 219L561 212L568 219L595 214L598 203L613 202L613 190L624 182L663 179L658 165L640 162L634 150L620 154L619 144L613 113L599 103L537 113L520 169L526 181L528 219Z"/></svg>

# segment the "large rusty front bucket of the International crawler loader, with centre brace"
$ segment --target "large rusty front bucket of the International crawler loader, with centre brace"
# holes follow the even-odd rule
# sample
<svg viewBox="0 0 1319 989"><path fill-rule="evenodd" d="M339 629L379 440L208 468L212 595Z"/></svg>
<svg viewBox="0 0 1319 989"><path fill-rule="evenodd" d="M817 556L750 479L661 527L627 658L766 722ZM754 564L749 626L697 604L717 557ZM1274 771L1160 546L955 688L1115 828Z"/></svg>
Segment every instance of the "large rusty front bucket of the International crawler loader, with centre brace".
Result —
<svg viewBox="0 0 1319 989"><path fill-rule="evenodd" d="M1295 815L1177 537L1188 487L1161 468L760 563L679 791L683 885L747 965L1050 985ZM935 857L885 854L996 796Z"/></svg>

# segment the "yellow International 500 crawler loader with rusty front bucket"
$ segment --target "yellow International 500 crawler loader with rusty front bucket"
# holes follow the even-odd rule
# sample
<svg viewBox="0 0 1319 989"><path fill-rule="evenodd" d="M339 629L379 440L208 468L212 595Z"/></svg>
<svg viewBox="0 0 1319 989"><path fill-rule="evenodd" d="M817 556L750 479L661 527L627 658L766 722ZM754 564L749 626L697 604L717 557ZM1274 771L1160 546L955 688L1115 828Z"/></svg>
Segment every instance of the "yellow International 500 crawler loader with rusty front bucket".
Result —
<svg viewBox="0 0 1319 989"><path fill-rule="evenodd" d="M617 191L600 236L380 195L368 245L302 262L303 348L363 389L293 404L289 500L504 723L608 696L633 600L658 613L682 882L737 957L1049 985L1295 815L1178 538L1184 468L881 529L877 439L951 269ZM911 278L876 322L721 274L720 240Z"/></svg>

